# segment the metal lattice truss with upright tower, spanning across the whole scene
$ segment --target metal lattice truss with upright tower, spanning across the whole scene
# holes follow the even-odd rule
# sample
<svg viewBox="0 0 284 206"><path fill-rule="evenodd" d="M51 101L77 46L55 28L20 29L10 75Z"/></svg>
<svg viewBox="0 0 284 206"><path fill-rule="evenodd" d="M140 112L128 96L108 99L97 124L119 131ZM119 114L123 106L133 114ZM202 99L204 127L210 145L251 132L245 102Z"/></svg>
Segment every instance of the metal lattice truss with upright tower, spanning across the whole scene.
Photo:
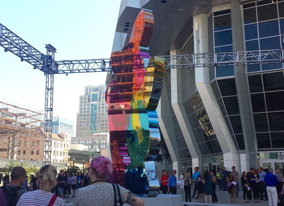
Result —
<svg viewBox="0 0 284 206"><path fill-rule="evenodd" d="M85 59L55 61L56 49L46 44L46 55L32 47L26 41L14 34L11 30L0 23L0 45L4 52L12 52L39 69L46 75L45 81L45 114L44 114L44 139L43 139L43 164L51 162L51 140L52 140L52 110L53 110L53 78L54 74L70 74L83 72L112 72L111 59ZM264 63L282 63L284 61L284 49L259 50L225 53L205 53L158 56L165 60L165 69L169 68L198 68L218 67L224 65L248 65ZM131 59L132 58L132 59ZM129 61L137 62L141 57L121 57L121 66ZM136 61L134 61L136 60ZM117 62L118 60L116 60Z"/></svg>

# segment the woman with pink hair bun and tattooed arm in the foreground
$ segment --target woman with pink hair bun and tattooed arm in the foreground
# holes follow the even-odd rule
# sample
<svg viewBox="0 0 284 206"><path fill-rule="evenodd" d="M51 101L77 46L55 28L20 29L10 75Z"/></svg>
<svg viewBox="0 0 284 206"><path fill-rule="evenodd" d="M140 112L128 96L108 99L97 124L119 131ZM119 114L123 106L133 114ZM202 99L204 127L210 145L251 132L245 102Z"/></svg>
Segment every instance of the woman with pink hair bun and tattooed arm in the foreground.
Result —
<svg viewBox="0 0 284 206"><path fill-rule="evenodd" d="M104 156L92 159L88 168L91 185L79 188L75 193L74 206L112 206L128 203L133 206L143 206L143 200L119 184L106 183L112 174L112 164ZM115 201L116 200L116 201Z"/></svg>

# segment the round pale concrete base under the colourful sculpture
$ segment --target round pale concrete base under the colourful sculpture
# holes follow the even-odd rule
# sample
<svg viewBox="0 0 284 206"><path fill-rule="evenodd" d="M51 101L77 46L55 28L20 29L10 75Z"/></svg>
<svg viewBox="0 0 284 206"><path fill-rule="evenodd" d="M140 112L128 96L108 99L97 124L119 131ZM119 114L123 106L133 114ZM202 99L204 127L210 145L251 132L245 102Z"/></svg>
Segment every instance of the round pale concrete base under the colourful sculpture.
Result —
<svg viewBox="0 0 284 206"><path fill-rule="evenodd" d="M172 205L181 205L181 195L172 195L172 194L159 194L156 197L142 197L144 201L144 206L172 206ZM130 206L129 204L123 204Z"/></svg>

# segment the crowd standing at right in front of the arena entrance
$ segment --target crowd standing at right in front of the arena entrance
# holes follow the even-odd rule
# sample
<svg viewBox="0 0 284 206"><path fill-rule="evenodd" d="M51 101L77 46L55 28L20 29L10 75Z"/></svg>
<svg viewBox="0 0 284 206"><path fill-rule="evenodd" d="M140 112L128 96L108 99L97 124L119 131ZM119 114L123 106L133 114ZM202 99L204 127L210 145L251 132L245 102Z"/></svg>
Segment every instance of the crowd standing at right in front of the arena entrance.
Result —
<svg viewBox="0 0 284 206"><path fill-rule="evenodd" d="M160 190L163 194L176 194L176 170L172 170L169 176L167 170L162 171ZM236 167L232 166L232 171L227 171L223 167L217 174L212 171L199 171L199 167L194 167L191 175L188 171L180 172L179 185L181 192L185 192L185 202L191 202L191 198L199 199L199 203L218 203L216 196L216 185L219 190L227 191L230 194L231 203L236 203L239 198L239 189L243 189L243 200L249 203L252 197L256 203L260 200L269 201L269 206L277 206L278 199L284 205L284 178L280 169L276 169L276 175L272 168L268 169L268 174L262 167L258 169L250 168L249 172L243 172L240 176ZM241 185L240 185L241 184ZM191 196L191 187L193 195ZM239 188L241 187L241 188Z"/></svg>

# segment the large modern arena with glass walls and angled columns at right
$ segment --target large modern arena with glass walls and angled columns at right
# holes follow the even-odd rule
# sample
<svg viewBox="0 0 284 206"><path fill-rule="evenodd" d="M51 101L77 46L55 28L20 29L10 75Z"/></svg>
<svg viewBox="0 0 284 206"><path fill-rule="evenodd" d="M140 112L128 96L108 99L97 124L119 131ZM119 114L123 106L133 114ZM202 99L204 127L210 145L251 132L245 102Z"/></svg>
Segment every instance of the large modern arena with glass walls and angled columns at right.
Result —
<svg viewBox="0 0 284 206"><path fill-rule="evenodd" d="M150 55L172 55L165 65L176 64L165 69L157 108L164 169L283 173L284 66L277 56L284 1L122 0L113 52L128 44L142 8L154 14Z"/></svg>

